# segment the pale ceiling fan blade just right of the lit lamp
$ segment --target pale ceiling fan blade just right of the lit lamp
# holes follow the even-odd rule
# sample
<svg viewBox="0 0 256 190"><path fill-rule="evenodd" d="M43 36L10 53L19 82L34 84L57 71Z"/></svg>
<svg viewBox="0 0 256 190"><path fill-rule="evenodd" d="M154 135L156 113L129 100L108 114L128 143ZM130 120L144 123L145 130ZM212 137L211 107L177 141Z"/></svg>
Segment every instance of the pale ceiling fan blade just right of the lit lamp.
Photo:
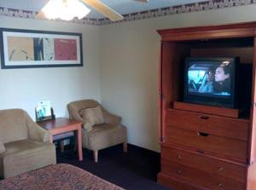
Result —
<svg viewBox="0 0 256 190"><path fill-rule="evenodd" d="M96 9L104 16L108 17L109 20L118 21L122 20L123 16L118 14L113 9L109 8L106 4L100 2L99 0L81 0L82 2L90 5L93 9Z"/></svg>

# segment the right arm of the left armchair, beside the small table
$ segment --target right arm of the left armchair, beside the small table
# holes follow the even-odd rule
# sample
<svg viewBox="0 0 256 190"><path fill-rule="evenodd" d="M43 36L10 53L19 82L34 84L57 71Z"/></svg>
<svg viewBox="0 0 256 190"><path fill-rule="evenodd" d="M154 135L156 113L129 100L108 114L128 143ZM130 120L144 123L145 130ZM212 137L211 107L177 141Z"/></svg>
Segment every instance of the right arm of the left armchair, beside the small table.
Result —
<svg viewBox="0 0 256 190"><path fill-rule="evenodd" d="M49 142L50 133L48 130L44 130L32 118L25 112L26 126L28 129L28 137L34 141Z"/></svg>

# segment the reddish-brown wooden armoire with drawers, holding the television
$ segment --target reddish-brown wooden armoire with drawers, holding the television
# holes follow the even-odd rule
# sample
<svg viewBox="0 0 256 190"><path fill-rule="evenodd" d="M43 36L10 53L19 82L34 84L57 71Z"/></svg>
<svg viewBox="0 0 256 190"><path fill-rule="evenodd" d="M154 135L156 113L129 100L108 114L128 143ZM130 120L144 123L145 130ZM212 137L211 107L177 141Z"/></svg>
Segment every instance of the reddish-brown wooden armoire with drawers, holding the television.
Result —
<svg viewBox="0 0 256 190"><path fill-rule="evenodd" d="M256 22L158 32L158 182L173 190L255 190ZM241 89L237 103L243 112L183 102L184 61L204 56L240 57L240 65L247 66L238 70Z"/></svg>

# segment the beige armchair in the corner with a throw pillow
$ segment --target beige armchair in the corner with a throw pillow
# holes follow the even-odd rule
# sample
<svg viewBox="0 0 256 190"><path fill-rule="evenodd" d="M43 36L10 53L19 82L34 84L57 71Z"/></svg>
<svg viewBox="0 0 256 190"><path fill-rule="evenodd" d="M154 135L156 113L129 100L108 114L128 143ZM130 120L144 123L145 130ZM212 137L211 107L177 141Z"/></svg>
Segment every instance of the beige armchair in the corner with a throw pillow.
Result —
<svg viewBox="0 0 256 190"><path fill-rule="evenodd" d="M67 105L69 118L83 124L83 147L92 150L94 161L98 161L98 151L123 143L127 152L126 128L121 118L105 110L97 101L73 101Z"/></svg>

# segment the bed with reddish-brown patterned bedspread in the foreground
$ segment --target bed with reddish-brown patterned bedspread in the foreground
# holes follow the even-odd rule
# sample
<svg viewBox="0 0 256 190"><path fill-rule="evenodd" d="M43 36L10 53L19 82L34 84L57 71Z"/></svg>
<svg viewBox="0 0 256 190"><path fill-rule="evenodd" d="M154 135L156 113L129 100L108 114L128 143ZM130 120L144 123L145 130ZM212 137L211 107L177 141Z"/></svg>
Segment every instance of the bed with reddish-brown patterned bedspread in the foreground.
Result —
<svg viewBox="0 0 256 190"><path fill-rule="evenodd" d="M55 164L0 181L1 190L123 190L86 170L70 164Z"/></svg>

